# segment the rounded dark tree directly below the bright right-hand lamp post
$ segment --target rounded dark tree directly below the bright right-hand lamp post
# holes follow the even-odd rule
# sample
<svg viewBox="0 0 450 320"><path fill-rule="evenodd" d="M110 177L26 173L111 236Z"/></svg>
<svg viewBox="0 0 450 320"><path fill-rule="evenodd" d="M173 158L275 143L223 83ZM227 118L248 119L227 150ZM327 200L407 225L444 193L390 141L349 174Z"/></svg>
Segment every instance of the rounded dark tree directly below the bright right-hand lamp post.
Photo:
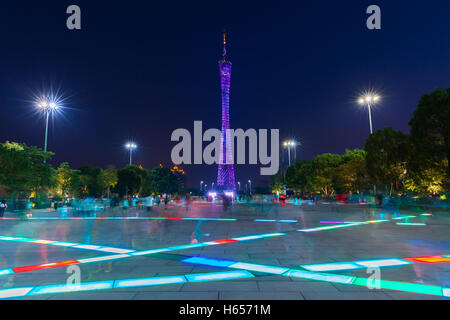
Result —
<svg viewBox="0 0 450 320"><path fill-rule="evenodd" d="M407 134L390 127L377 130L366 140L367 173L374 183L389 188L389 194L398 190L405 178L410 146Z"/></svg>

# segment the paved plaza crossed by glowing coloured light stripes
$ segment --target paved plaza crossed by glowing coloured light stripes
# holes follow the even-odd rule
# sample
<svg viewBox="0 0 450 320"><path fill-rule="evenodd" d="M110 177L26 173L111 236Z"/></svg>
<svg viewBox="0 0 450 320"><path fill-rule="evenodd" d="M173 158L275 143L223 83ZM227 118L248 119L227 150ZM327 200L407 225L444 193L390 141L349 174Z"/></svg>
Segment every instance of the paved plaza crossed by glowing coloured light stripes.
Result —
<svg viewBox="0 0 450 320"><path fill-rule="evenodd" d="M225 210L197 201L189 208L173 203L151 211L35 210L32 217L5 217L2 298L449 296L450 215L443 209L303 202L236 203ZM377 272L379 282L366 281ZM78 275L79 286L70 282Z"/></svg>

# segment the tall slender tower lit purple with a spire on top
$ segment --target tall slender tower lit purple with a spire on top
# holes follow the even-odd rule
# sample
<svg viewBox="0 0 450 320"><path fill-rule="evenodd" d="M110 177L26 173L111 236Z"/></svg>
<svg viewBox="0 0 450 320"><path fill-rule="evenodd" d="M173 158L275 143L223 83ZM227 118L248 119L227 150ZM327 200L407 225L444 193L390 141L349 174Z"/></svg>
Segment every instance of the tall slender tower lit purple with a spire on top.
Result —
<svg viewBox="0 0 450 320"><path fill-rule="evenodd" d="M222 135L220 141L219 170L217 172L217 187L223 190L234 190L233 150L231 140L227 136L230 129L230 82L231 62L226 59L226 38L223 33L223 59L219 61L220 85L222 88Z"/></svg>

